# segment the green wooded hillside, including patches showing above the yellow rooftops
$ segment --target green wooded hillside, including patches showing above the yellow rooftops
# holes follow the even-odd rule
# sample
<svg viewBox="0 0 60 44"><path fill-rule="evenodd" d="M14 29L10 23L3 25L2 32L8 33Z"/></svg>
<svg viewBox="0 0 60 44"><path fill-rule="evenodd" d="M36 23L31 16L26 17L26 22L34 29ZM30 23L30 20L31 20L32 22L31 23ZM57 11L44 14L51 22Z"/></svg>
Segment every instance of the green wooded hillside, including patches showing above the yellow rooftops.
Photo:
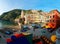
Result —
<svg viewBox="0 0 60 44"><path fill-rule="evenodd" d="M1 20L6 20L6 21L14 21L16 18L19 18L21 15L22 9L14 9L8 12L3 13L0 16ZM24 13L32 13L31 10L23 10ZM38 10L38 12L41 12L42 10Z"/></svg>

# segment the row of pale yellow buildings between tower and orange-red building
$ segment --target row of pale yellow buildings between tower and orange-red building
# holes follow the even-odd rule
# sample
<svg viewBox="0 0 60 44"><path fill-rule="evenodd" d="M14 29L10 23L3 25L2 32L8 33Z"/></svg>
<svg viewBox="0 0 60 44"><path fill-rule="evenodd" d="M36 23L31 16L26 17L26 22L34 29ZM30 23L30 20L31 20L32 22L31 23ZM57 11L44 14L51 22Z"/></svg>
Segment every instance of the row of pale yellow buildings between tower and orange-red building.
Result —
<svg viewBox="0 0 60 44"><path fill-rule="evenodd" d="M30 22L30 23L46 22L46 16L44 12L39 13L37 10L32 10L31 14L25 14L25 16L26 16L27 22Z"/></svg>

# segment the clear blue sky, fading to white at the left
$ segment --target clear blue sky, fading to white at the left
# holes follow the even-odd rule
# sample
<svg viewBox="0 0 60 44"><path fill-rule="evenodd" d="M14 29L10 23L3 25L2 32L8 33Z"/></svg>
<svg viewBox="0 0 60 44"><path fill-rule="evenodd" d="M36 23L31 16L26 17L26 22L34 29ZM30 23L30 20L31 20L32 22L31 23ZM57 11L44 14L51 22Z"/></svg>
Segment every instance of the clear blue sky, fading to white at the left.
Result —
<svg viewBox="0 0 60 44"><path fill-rule="evenodd" d="M0 0L0 15L13 9L60 11L60 0Z"/></svg>

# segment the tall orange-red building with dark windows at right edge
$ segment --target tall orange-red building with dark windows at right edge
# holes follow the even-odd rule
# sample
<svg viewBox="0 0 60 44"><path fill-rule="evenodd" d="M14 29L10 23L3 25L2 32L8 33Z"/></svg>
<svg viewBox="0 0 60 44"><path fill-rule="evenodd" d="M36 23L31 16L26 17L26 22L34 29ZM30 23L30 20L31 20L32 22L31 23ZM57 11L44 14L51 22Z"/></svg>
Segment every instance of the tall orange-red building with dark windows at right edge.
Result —
<svg viewBox="0 0 60 44"><path fill-rule="evenodd" d="M50 28L57 28L60 26L60 13L57 10L51 11L49 14L49 22L47 23Z"/></svg>

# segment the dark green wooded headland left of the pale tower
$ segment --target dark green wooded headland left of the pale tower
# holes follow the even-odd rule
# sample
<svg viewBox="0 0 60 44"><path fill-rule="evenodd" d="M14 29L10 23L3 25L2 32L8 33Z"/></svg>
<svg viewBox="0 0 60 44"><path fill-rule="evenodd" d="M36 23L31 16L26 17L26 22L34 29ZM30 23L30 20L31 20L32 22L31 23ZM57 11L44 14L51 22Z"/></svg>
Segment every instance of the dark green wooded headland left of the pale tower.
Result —
<svg viewBox="0 0 60 44"><path fill-rule="evenodd" d="M20 16L20 14L21 14L21 10L15 9L15 10L3 13L0 16L0 19L7 20L7 21L14 21L14 19L17 18L18 16Z"/></svg>

